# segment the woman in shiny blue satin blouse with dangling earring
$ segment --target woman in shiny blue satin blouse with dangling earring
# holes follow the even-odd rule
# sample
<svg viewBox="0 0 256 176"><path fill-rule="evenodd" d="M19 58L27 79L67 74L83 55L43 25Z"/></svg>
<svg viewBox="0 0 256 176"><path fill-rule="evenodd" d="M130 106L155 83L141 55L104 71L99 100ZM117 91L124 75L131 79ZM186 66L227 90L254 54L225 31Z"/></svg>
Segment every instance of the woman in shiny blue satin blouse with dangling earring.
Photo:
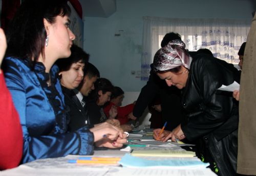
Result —
<svg viewBox="0 0 256 176"><path fill-rule="evenodd" d="M22 124L21 163L69 154L91 155L98 135L123 137L113 129L103 134L92 133L87 127L67 132L68 108L54 62L71 55L75 35L69 29L70 12L65 0L25 0L10 22L3 68Z"/></svg>

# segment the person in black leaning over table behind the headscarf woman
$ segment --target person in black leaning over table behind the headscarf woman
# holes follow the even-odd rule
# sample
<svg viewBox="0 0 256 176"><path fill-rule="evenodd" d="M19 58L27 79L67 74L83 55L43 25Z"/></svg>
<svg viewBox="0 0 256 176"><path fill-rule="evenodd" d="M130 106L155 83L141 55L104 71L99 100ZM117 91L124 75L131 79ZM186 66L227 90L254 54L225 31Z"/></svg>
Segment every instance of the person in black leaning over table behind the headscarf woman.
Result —
<svg viewBox="0 0 256 176"><path fill-rule="evenodd" d="M167 33L161 41L161 47L167 45L169 41L177 39L181 40L181 36L178 33ZM146 107L156 96L159 96L161 102L162 123L164 124L167 121L165 129L173 130L185 119L184 109L181 106L181 90L174 86L168 87L153 71L153 63L150 67L151 70L148 81L141 89L139 97L136 100L133 113L129 114L129 118L141 117Z"/></svg>

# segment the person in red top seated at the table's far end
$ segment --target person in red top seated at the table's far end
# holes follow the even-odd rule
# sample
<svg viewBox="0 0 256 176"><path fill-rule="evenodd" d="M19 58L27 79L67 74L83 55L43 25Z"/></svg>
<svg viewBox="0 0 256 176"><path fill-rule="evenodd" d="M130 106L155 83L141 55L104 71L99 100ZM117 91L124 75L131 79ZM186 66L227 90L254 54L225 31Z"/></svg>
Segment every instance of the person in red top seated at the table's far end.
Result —
<svg viewBox="0 0 256 176"><path fill-rule="evenodd" d="M134 118L130 118L130 116L128 116L131 112L133 112L135 103L121 107L122 100L124 97L123 94L124 94L124 92L120 87L114 87L114 90L111 95L110 103L104 107L104 113L106 114L107 117L109 117L109 111L110 111L111 107L112 106L117 107L116 119L118 119L120 121L121 125L126 124L130 119L136 120L136 118L134 119Z"/></svg>

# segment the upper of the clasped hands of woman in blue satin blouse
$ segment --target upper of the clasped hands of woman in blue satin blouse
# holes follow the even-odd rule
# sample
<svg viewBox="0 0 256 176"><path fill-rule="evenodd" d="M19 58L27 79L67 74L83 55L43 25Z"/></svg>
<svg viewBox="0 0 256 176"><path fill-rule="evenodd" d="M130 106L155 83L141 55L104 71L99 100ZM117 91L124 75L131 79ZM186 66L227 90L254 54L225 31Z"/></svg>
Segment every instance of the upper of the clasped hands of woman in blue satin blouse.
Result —
<svg viewBox="0 0 256 176"><path fill-rule="evenodd" d="M102 138L108 138L110 140L116 140L118 137L123 138L123 132L107 122L97 125L97 127L90 129L90 131L94 134L94 142Z"/></svg>

